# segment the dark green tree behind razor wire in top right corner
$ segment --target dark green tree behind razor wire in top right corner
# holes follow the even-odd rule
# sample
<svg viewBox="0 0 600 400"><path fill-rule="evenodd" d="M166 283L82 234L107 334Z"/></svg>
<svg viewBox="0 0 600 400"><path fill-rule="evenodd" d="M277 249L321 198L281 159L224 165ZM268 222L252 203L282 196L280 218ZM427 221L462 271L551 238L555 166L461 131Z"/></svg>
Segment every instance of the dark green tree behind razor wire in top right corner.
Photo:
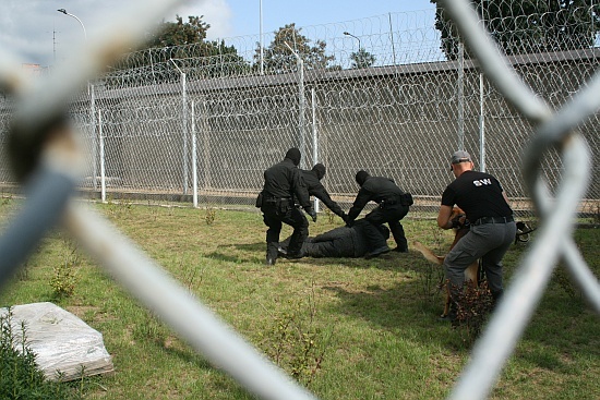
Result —
<svg viewBox="0 0 600 400"><path fill-rule="evenodd" d="M449 60L458 58L456 26L437 0L435 27ZM488 32L506 54L563 51L593 46L600 5L593 0L471 0ZM465 58L470 58L469 52Z"/></svg>

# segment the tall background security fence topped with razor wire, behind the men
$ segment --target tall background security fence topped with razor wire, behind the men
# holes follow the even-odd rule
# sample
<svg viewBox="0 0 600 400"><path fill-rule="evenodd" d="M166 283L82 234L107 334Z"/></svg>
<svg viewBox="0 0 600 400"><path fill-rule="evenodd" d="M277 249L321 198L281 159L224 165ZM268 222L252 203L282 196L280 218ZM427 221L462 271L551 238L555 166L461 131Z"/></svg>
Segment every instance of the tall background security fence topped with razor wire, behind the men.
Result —
<svg viewBox="0 0 600 400"><path fill-rule="evenodd" d="M456 53L441 50L448 39L430 15L391 13L289 27L308 43L326 45L319 62L293 37L277 44L277 33L263 35L268 59L260 56L259 36L219 39L212 56L203 56L203 44L127 54L73 100L71 116L89 153L81 189L104 199L251 205L264 169L296 146L302 168L327 167L323 182L341 203L351 202L355 173L365 169L393 178L417 206L429 209L454 179L449 155L466 149L476 168L500 179L517 213L528 214L520 149L531 125L460 44ZM502 20L488 23L507 29ZM591 29L589 21L579 23ZM506 35L520 38L523 32ZM568 99L599 64L595 40L581 48L569 40L536 43L507 58L550 105ZM273 56L277 46L287 47L279 49L285 57ZM8 100L0 101L0 112L4 137ZM593 159L583 214L598 214L599 207L598 117L579 125ZM548 156L542 171L553 187L561 179L560 158ZM12 184L2 160L0 187L10 191Z"/></svg>

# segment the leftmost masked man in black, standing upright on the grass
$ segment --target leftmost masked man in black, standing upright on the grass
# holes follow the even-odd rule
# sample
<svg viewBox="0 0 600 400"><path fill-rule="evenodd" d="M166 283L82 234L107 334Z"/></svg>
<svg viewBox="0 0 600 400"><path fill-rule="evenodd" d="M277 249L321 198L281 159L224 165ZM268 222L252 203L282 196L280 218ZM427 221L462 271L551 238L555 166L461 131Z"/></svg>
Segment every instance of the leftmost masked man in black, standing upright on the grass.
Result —
<svg viewBox="0 0 600 400"><path fill-rule="evenodd" d="M298 165L300 150L296 147L286 153L281 162L274 165L264 172L265 184L256 199L256 206L263 211L263 220L268 227L266 231L266 264L274 265L277 260L279 233L281 223L293 228L289 243L290 258L298 258L304 239L309 235L309 221L302 211L296 207L298 202L302 208L316 221L309 192L302 180Z"/></svg>

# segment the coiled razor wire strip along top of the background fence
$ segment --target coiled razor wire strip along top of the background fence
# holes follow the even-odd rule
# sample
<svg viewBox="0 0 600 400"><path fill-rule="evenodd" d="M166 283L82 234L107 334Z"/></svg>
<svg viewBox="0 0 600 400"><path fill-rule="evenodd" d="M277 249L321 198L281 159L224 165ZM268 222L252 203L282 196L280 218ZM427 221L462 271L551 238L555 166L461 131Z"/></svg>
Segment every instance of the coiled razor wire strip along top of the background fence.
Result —
<svg viewBox="0 0 600 400"><path fill-rule="evenodd" d="M502 43L508 56L598 47L598 39L590 41L590 32L598 22L588 22L585 17L569 19L569 15L595 15L591 9L593 5L553 10L531 4L512 2L508 12L503 10L502 15L490 16L483 12L483 15L478 16L480 22L493 29L493 39ZM357 65L360 57L372 57L369 66L375 68L455 59L456 54L448 47L453 39L441 34L452 29L452 26L447 21L435 20L434 11L435 9L394 12L323 25L290 24L288 28L291 34L301 35L309 46L323 46L323 58L319 62L311 60L312 54L307 49L299 52L305 61L307 70L360 69ZM556 26L559 23L561 25ZM544 37L544 33L552 29L564 31L568 35L553 34L537 41L524 40L524 37L532 35L532 29L539 31L538 37ZM297 68L292 53L297 49L289 50L280 43L277 37L280 31L285 31L285 27L263 33L262 41L261 35L256 34L129 52L111 68L107 77L116 80L132 73L145 73L148 76L160 76L163 81L177 81L180 71L192 75L200 69L209 70L211 76L259 75L263 73L259 68L261 59L269 60L264 69L267 75L290 72ZM173 68L171 60L177 60L177 68ZM217 64L221 65L218 72Z"/></svg>

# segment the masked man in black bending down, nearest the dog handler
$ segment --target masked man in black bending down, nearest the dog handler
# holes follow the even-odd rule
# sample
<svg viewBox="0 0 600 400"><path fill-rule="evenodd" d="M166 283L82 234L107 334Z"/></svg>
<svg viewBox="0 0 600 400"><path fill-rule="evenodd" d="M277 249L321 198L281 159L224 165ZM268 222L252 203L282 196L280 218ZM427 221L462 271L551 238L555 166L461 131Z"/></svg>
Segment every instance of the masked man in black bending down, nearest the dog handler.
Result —
<svg viewBox="0 0 600 400"><path fill-rule="evenodd" d="M382 239L377 226L385 223L389 226L394 241L396 241L396 252L407 253L408 242L404 232L400 220L408 214L408 208L412 205L412 196L410 193L405 193L389 178L371 177L367 171L358 171L356 181L360 185L352 207L348 211L348 223L359 216L367 203L375 202L379 207L373 209L364 217L371 226L365 227L365 234L372 252L367 254L368 257L375 257L380 254L387 253L389 247L385 240Z"/></svg>

